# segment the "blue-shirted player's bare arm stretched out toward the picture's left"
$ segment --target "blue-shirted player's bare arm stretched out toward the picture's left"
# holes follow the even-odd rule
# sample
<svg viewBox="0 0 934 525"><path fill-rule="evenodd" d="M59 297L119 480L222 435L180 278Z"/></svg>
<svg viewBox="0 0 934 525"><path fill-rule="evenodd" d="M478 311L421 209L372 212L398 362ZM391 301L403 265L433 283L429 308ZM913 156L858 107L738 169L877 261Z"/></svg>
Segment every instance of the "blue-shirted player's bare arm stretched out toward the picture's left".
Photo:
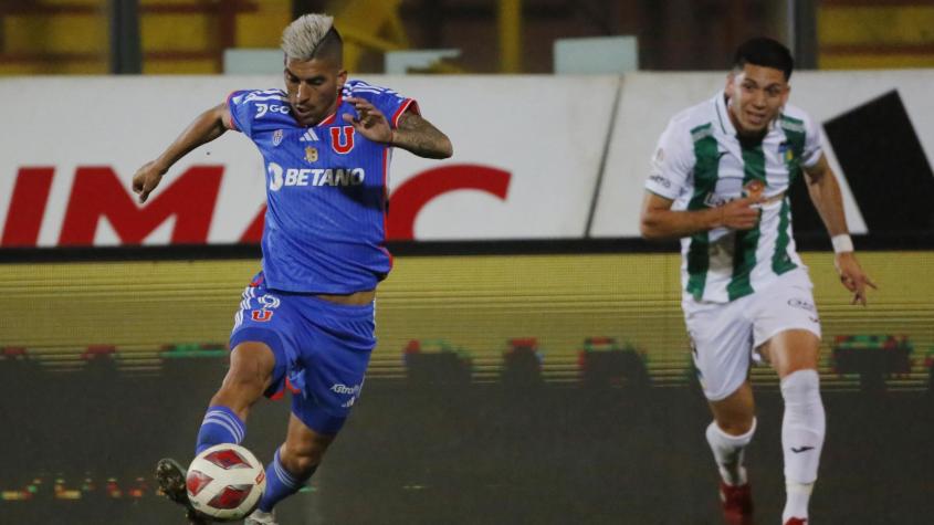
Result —
<svg viewBox="0 0 934 525"><path fill-rule="evenodd" d="M159 186L162 176L178 160L198 146L210 143L230 128L230 108L227 103L214 106L198 115L175 141L155 160L143 165L133 176L133 191L139 195L139 202L146 202L149 193Z"/></svg>

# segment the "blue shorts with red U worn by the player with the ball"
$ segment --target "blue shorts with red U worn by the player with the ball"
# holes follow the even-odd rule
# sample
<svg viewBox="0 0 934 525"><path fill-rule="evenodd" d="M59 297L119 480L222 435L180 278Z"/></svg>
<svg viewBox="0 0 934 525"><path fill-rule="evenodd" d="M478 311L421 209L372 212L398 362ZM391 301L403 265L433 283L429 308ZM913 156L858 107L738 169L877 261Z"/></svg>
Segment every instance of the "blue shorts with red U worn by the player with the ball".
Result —
<svg viewBox="0 0 934 525"><path fill-rule="evenodd" d="M364 386L376 346L376 308L267 290L263 281L260 272L243 291L230 348L265 343L275 355L265 395L277 399L288 388L292 412L312 430L335 434Z"/></svg>

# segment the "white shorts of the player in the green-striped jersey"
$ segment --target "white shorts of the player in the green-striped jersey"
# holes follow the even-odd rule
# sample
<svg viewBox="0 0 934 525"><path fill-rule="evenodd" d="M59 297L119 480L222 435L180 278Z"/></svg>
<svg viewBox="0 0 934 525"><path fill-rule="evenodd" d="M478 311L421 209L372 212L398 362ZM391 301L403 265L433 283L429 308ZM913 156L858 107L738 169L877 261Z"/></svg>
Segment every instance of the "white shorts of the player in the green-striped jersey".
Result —
<svg viewBox="0 0 934 525"><path fill-rule="evenodd" d="M820 318L807 271L794 270L731 303L682 301L694 366L704 396L723 399L746 380L751 357L775 334L806 329L820 338Z"/></svg>

